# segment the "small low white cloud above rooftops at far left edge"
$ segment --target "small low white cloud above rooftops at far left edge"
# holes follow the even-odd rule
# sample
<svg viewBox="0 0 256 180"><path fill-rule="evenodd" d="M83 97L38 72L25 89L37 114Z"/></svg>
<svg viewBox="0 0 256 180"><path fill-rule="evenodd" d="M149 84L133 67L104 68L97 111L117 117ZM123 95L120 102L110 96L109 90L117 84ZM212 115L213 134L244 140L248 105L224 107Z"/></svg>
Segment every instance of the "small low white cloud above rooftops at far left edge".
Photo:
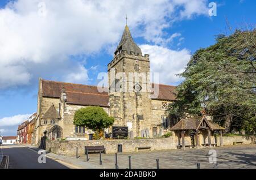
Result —
<svg viewBox="0 0 256 180"><path fill-rule="evenodd" d="M0 119L0 127L18 126L20 123L28 119L32 114L19 114L12 117L5 117Z"/></svg>

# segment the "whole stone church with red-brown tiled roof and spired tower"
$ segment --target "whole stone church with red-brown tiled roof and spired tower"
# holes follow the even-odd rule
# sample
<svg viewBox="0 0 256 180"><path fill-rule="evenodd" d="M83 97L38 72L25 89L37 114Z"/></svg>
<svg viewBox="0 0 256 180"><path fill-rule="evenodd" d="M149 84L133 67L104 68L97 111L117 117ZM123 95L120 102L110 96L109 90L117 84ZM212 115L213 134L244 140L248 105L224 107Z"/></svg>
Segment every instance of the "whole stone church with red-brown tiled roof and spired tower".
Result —
<svg viewBox="0 0 256 180"><path fill-rule="evenodd" d="M73 125L76 110L86 106L104 108L114 117L114 126L129 128L129 138L162 136L176 123L166 114L168 104L175 101L175 87L151 84L149 76L130 78L131 72L149 74L150 55L142 55L126 25L114 58L108 65L109 88L99 91L97 86L39 79L34 143L39 144L44 134L49 139L89 139L92 130ZM144 91L147 87L157 93ZM105 131L109 134L111 127Z"/></svg>

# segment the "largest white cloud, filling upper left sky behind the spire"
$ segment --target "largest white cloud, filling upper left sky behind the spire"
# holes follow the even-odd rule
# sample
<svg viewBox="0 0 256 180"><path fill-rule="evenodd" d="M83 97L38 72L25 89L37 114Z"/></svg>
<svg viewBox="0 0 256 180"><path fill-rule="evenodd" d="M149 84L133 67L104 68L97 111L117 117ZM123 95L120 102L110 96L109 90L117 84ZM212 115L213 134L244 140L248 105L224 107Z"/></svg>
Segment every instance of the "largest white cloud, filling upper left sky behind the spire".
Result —
<svg viewBox="0 0 256 180"><path fill-rule="evenodd" d="M45 16L40 2L46 5ZM134 36L161 44L168 36L164 28L207 14L206 8L205 0L11 2L0 9L0 89L30 84L38 76L48 77L48 72L55 78L85 83L86 69L70 57L115 46L125 14ZM73 73L75 68L78 73Z"/></svg>

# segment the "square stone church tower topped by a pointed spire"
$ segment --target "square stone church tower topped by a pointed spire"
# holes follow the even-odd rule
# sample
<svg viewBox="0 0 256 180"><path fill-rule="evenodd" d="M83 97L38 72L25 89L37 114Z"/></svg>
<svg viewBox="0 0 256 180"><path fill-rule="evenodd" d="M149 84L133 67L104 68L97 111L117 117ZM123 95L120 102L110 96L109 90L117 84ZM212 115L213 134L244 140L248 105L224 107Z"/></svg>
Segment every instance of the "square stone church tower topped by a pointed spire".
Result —
<svg viewBox="0 0 256 180"><path fill-rule="evenodd" d="M150 59L142 55L141 48L133 41L128 26L114 59L108 65L110 116L114 126L128 126L130 137L149 137L151 122Z"/></svg>

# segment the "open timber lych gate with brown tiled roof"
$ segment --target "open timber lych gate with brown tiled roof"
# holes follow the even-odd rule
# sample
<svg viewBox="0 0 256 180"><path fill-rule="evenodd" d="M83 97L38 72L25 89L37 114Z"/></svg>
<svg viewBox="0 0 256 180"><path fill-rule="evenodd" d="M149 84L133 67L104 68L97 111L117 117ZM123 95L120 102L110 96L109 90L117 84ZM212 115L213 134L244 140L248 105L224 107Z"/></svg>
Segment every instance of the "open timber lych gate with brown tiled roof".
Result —
<svg viewBox="0 0 256 180"><path fill-rule="evenodd" d="M188 147L200 146L199 144L199 135L203 135L203 145L206 147L212 147L212 145L217 145L217 138L214 136L215 142L212 142L211 136L220 134L220 146L222 146L222 130L225 128L217 125L211 119L211 117L204 115L203 117L194 117L189 119L181 119L174 127L171 128L172 131L175 131L175 134L178 136L178 147L185 149ZM185 135L189 136L190 144L185 144ZM208 140L208 142L207 142Z"/></svg>

